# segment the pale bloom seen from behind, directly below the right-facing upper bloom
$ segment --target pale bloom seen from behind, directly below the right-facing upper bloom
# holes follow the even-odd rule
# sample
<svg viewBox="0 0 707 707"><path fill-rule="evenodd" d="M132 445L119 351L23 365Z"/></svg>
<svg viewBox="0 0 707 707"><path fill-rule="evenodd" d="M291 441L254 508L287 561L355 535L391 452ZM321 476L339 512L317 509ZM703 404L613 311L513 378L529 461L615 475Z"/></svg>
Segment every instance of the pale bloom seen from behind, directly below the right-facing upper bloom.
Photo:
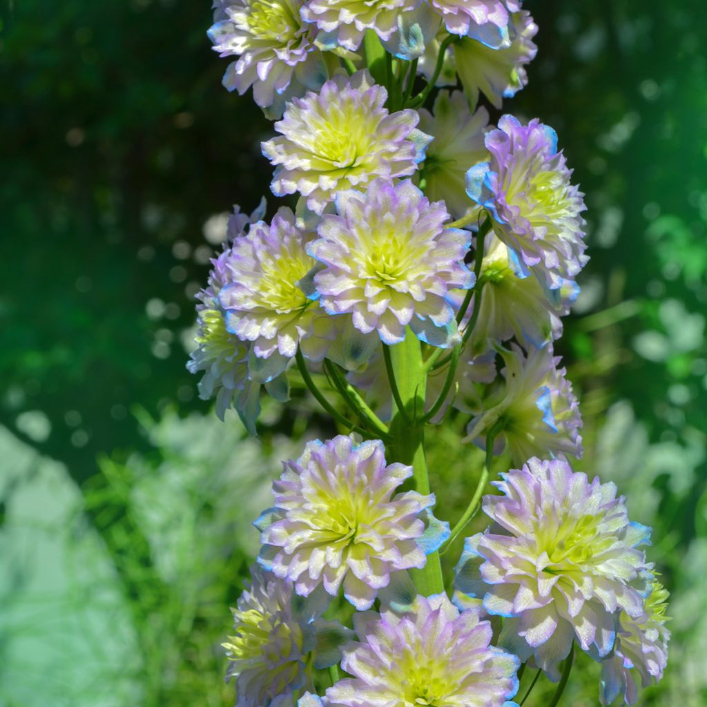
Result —
<svg viewBox="0 0 707 707"><path fill-rule="evenodd" d="M479 318L469 339L474 354L515 337L526 349L542 348L562 333L579 288L566 281L555 290L511 267L508 247L493 233L486 236L479 280L483 286ZM471 306L470 306L471 308Z"/></svg>

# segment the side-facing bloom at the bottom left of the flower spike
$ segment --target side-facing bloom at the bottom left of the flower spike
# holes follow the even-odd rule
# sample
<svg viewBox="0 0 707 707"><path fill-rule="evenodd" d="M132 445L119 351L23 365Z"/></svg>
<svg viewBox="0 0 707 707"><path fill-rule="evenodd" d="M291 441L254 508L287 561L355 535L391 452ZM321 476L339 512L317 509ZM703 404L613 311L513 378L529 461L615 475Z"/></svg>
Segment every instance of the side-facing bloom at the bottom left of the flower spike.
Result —
<svg viewBox="0 0 707 707"><path fill-rule="evenodd" d="M223 643L236 707L291 707L296 691L312 687L308 660L316 667L339 662L339 645L351 632L321 618L327 604L323 592L303 600L291 583L252 568L232 609L234 635Z"/></svg>

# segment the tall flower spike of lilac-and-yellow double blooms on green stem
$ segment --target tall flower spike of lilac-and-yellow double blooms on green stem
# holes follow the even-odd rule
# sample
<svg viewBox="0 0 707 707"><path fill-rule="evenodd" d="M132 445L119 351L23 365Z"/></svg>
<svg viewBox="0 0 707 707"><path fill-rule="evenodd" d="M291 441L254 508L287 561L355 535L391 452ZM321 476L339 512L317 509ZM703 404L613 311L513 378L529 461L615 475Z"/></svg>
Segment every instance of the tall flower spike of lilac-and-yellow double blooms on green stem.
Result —
<svg viewBox="0 0 707 707"><path fill-rule="evenodd" d="M235 57L226 86L281 117L262 151L293 210L230 217L189 370L250 433L261 395L290 390L337 428L284 464L255 521L262 547L224 644L238 707L503 707L519 686L529 699L521 665L557 682L555 706L575 652L600 662L602 704L633 704L667 664L667 594L648 529L568 463L581 417L554 344L587 260L583 195L551 128L489 124L527 83L530 13L214 8L209 36ZM445 503L431 513L436 426L484 449L477 464L460 448L469 498L451 526ZM481 508L490 525L445 585Z"/></svg>

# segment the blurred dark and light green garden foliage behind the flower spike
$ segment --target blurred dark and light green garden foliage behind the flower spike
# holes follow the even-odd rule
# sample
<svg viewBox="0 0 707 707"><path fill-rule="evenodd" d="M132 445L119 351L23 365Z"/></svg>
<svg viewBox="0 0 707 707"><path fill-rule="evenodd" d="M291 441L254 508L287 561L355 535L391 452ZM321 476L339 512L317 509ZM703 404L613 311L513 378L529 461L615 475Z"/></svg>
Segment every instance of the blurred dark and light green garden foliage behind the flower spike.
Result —
<svg viewBox="0 0 707 707"><path fill-rule="evenodd" d="M589 207L592 259L559 342L585 419L578 467L653 526L672 592L670 665L641 702L699 707L707 6L526 6L539 53L507 110L557 129ZM255 208L271 173L271 127L221 88L210 22L206 0L0 9L3 707L231 703L218 644L257 549L250 521L279 460L332 433L296 399L248 439L185 370L225 214ZM478 464L455 434L431 450L450 509ZM573 676L566 703L595 705L596 666Z"/></svg>

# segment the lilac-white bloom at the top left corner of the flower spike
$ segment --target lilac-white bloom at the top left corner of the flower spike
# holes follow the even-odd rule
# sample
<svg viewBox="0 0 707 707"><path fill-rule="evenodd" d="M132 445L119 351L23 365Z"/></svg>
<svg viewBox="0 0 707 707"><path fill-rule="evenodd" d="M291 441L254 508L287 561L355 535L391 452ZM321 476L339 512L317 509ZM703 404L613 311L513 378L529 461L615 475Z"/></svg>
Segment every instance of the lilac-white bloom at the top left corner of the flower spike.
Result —
<svg viewBox="0 0 707 707"><path fill-rule="evenodd" d="M221 0L209 30L221 57L240 56L226 69L223 85L240 95L252 86L255 103L274 115L287 98L318 88L327 77L301 6L300 0Z"/></svg>

